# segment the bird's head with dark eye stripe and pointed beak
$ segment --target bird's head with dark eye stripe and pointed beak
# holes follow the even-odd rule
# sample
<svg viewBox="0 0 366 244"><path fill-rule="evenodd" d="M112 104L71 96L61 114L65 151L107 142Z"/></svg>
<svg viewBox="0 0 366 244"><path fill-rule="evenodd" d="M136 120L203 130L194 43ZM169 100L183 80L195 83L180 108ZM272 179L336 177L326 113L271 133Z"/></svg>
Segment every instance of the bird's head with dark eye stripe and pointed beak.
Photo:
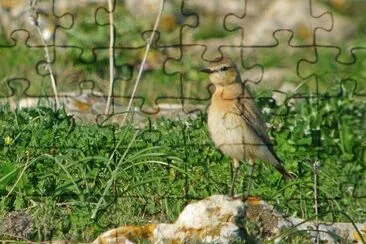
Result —
<svg viewBox="0 0 366 244"><path fill-rule="evenodd" d="M212 62L208 67L201 69L208 73L210 81L215 86L227 86L240 81L236 65L227 58L221 58Z"/></svg>

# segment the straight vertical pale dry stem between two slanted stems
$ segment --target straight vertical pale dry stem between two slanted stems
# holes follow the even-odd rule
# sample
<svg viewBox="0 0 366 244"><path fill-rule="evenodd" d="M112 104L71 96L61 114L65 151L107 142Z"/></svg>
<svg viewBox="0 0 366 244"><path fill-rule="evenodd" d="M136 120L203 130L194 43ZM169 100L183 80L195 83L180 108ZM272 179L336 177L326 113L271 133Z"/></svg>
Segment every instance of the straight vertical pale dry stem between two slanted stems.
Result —
<svg viewBox="0 0 366 244"><path fill-rule="evenodd" d="M113 3L108 0L108 16L109 16L109 91L107 105L104 114L109 114L111 100L113 94L114 83L114 20L113 20Z"/></svg>

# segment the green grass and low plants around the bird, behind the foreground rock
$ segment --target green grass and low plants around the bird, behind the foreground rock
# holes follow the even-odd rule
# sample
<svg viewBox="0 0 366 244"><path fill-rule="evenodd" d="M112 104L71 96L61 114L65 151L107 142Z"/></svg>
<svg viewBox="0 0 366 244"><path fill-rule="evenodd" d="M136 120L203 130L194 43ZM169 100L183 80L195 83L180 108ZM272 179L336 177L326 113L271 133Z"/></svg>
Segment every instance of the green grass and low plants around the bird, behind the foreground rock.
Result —
<svg viewBox="0 0 366 244"><path fill-rule="evenodd" d="M317 161L319 218L365 221L366 106L344 94L288 108L258 100L267 108L278 155L298 178L285 182L259 163L253 195L289 215L314 217ZM63 110L49 108L3 107L0 118L0 216L27 212L30 240L90 241L124 224L172 222L193 199L228 193L230 159L214 148L205 114L159 119L139 130L75 124ZM317 131L320 145L312 138ZM241 169L238 193L246 183L246 166Z"/></svg>

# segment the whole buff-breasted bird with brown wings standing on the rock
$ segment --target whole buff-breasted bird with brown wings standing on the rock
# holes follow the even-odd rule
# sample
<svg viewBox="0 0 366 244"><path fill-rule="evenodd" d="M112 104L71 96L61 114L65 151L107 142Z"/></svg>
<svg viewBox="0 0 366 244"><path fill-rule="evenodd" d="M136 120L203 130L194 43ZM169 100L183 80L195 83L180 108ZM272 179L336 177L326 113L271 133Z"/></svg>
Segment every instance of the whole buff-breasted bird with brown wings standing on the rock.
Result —
<svg viewBox="0 0 366 244"><path fill-rule="evenodd" d="M223 154L232 158L230 195L234 196L236 176L240 162L244 160L249 165L245 197L250 194L253 168L257 160L272 165L284 179L293 178L277 156L267 134L263 115L246 84L242 82L235 63L227 57L221 57L201 71L208 74L215 87L207 115L210 137Z"/></svg>

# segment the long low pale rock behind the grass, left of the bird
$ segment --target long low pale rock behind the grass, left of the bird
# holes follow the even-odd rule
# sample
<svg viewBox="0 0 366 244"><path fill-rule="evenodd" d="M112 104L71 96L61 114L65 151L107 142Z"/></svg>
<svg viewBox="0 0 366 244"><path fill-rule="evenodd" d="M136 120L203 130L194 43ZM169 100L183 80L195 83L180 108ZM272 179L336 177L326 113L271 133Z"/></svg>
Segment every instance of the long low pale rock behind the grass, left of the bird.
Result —
<svg viewBox="0 0 366 244"><path fill-rule="evenodd" d="M78 123L101 123L112 124L120 123L127 115L125 113L127 105L121 104L117 99L111 105L111 115L104 115L107 105L106 96L92 89L82 89L80 92L60 92L59 100L68 115L74 116ZM55 107L53 97L33 98L25 97L15 101L13 97L0 99L0 105L9 104L10 108L15 110L36 108L38 106ZM157 119L161 117L170 119L196 118L197 115L206 109L206 105L199 104L171 104L161 103L154 107L147 107L142 110L139 107L132 107L134 112L133 125L137 128L143 128L149 123L149 118ZM147 117L146 114L150 114Z"/></svg>

